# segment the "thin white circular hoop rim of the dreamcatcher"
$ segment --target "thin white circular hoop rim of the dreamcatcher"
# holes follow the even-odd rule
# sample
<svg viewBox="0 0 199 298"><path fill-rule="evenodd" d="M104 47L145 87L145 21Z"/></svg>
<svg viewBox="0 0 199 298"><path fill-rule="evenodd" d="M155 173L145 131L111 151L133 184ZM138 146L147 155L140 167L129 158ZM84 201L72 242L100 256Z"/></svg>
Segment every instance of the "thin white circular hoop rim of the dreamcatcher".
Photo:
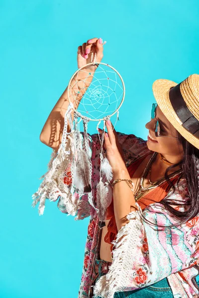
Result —
<svg viewBox="0 0 199 298"><path fill-rule="evenodd" d="M95 61L95 59L94 59L94 61ZM113 67L110 66L109 64L102 63L102 62L91 62L91 63L88 63L88 64L86 64L85 66L79 68L79 69L78 69L78 70L71 76L71 79L70 79L70 81L69 81L68 86L71 85L71 82L72 82L72 80L74 79L74 77L76 76L76 74L78 74L79 71L81 71L82 69L86 68L86 67L89 66L89 65L93 65L93 66L94 66L94 65L98 65L98 66L99 66L99 65L104 65L104 66L109 67L109 68L112 69L116 74L118 74L118 76L119 76L119 78L120 78L120 80L121 80L121 82L122 82L122 86L123 86L123 96L122 96L122 99L121 99L121 102L120 102L119 106L115 109L115 111L114 111L112 114L108 115L108 117L111 117L111 116L113 116L115 113L118 112L119 108L121 107L121 105L122 105L122 103L123 103L123 101L124 101L124 97L125 97L125 85L124 85L124 81L123 81L121 75L118 73L118 71L117 71L115 68L113 68ZM95 74L95 71L94 71L93 73L89 73L89 74ZM92 82L91 82L91 83L92 83ZM68 87L68 90L67 90L68 100L69 100L70 103L72 103L71 100L70 100L70 97L72 96L72 94L69 93L70 90L71 90L71 88ZM86 91L86 92L87 92L87 91ZM86 92L85 92L85 94L86 94ZM84 95L85 95L85 94L84 94ZM84 95L83 95L82 97L84 97ZM75 99L75 100L76 100L76 99ZM76 112L76 109L75 109L75 108L73 108L73 110L74 110L74 112ZM77 110L78 110L78 109L77 109ZM79 112L79 114L80 114L80 117L81 117L81 118L83 118L83 119L85 118L85 116L83 116L80 112ZM106 117L107 117L107 116L106 116ZM92 118L90 118L90 117L87 117L87 118L89 119L89 121L102 121L102 120L104 120L104 118L100 118L100 119L92 119Z"/></svg>

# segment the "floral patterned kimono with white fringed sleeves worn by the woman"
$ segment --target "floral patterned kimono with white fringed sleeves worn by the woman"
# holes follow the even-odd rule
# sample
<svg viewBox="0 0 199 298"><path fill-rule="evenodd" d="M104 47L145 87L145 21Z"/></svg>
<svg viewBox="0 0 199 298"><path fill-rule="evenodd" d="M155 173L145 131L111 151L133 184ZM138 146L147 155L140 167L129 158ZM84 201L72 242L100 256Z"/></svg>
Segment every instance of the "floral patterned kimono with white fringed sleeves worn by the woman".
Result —
<svg viewBox="0 0 199 298"><path fill-rule="evenodd" d="M150 151L146 141L133 134L117 132L117 136L127 167ZM89 135L89 142L93 164L92 194L94 206L97 206L96 186L100 178L98 134ZM71 188L70 166L63 173L62 180ZM173 194L171 189L167 195L171 201L186 200L186 180L181 179L178 185L179 188L177 183L175 184L176 190ZM73 188L71 190L74 198L78 198L75 220L90 216L78 298L91 298L91 277L100 245L99 218L88 202L88 195L80 197ZM60 196L57 206L61 212L70 214ZM174 298L199 297L199 288L195 281L199 274L199 216L177 227L160 228L153 224L166 226L176 223L175 217L165 210L161 203L150 204L144 210L141 210L138 203L136 206L139 211L127 215L129 222L121 227L113 241L111 266L108 273L97 281L92 297L113 298L115 292L140 289L166 277ZM175 208L183 211L182 207ZM152 224L143 220L141 215Z"/></svg>

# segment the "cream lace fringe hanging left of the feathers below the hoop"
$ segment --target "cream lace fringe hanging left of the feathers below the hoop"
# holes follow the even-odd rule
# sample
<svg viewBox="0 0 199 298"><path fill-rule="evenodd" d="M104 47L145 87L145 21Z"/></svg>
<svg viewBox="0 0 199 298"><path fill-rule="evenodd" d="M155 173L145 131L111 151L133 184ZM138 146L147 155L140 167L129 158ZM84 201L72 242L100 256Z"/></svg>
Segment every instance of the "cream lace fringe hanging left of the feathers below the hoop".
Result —
<svg viewBox="0 0 199 298"><path fill-rule="evenodd" d="M72 195L73 188L70 189L62 181L63 172L74 162L74 136L71 137L69 136L70 133L67 133L67 125L69 121L72 128L71 133L73 135L73 123L71 117L72 108L73 104L70 104L65 114L65 126L59 150L57 153L53 150L48 163L48 170L43 176L41 176L41 178L44 179L37 192L32 195L32 207L34 208L37 203L39 203L39 215L43 215L44 213L46 198L50 199L50 201L56 201L58 197L61 196L64 204L66 205L67 212L73 216L77 213L79 207L80 200Z"/></svg>

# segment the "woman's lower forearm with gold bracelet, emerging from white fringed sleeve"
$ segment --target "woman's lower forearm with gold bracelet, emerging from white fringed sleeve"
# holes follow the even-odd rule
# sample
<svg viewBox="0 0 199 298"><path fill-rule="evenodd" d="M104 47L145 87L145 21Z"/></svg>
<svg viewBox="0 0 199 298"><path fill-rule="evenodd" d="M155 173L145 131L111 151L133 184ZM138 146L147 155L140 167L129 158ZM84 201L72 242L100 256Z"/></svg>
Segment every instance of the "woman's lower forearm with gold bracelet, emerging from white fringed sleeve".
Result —
<svg viewBox="0 0 199 298"><path fill-rule="evenodd" d="M113 174L116 179L130 179L127 170L120 170ZM132 190L125 181L120 181L113 186L113 206L117 230L128 223L126 215L135 210L135 198Z"/></svg>

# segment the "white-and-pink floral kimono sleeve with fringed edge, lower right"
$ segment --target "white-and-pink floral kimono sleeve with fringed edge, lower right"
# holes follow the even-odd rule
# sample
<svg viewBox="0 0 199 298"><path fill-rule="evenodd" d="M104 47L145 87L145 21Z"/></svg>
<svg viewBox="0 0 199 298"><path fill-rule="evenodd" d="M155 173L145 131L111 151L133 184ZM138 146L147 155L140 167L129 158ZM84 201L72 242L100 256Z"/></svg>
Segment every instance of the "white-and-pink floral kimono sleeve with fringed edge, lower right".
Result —
<svg viewBox="0 0 199 298"><path fill-rule="evenodd" d="M171 200L181 197L176 192ZM136 206L138 211L127 215L129 221L113 241L112 264L97 281L94 298L113 298L115 292L150 286L198 264L198 216L186 224L165 227L177 221L162 204L151 204L144 211L137 203Z"/></svg>

